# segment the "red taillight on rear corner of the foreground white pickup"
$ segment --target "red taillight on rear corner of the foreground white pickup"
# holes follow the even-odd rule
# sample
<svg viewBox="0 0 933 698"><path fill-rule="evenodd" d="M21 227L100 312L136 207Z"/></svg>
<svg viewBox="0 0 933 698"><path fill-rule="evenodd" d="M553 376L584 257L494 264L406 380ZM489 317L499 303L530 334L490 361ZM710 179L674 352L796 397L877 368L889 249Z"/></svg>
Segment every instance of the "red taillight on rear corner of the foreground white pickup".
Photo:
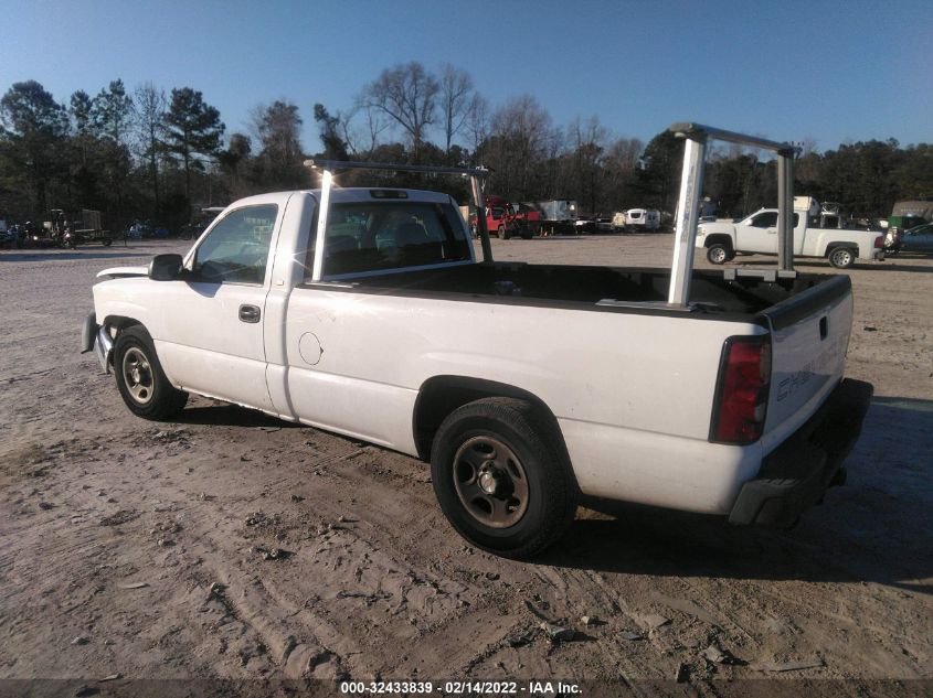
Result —
<svg viewBox="0 0 933 698"><path fill-rule="evenodd" d="M722 347L710 441L757 441L767 411L771 343L767 337L730 337Z"/></svg>

